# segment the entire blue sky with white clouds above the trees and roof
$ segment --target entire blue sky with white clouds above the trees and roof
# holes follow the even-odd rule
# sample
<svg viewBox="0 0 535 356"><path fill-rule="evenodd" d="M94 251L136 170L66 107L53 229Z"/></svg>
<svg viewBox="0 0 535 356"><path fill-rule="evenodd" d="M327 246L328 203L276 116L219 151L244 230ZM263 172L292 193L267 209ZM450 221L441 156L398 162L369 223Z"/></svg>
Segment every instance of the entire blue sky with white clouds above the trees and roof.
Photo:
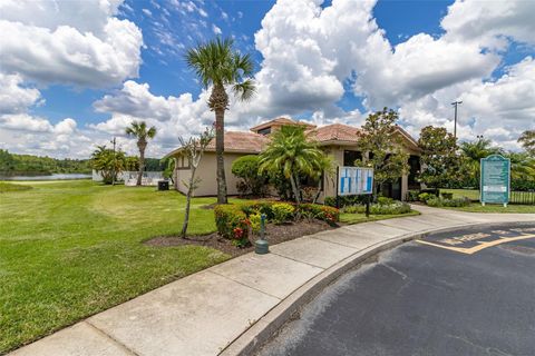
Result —
<svg viewBox="0 0 535 356"><path fill-rule="evenodd" d="M535 128L535 1L0 0L0 148L88 158L137 152L133 120L158 130L148 157L214 121L187 49L216 37L255 62L256 95L231 98L227 130L280 116L362 125L398 110L518 150Z"/></svg>

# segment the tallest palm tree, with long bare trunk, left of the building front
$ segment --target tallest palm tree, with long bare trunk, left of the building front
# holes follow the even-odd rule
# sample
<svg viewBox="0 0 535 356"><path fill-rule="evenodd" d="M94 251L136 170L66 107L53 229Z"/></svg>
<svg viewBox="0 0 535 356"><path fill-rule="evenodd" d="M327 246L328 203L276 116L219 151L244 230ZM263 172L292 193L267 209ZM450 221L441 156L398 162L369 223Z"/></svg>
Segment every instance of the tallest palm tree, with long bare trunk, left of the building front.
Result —
<svg viewBox="0 0 535 356"><path fill-rule="evenodd" d="M225 110L228 109L231 89L239 100L250 100L255 92L253 60L233 49L233 40L212 40L198 44L186 53L187 66L197 75L203 86L212 87L208 107L215 112L215 154L217 158L217 202L226 204L226 179L223 152Z"/></svg>

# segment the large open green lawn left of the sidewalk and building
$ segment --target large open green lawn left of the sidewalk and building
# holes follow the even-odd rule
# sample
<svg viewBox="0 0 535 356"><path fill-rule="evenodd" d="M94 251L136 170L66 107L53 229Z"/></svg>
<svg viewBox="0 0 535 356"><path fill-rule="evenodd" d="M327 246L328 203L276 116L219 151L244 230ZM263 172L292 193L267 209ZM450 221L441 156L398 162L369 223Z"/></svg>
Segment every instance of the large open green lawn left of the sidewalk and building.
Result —
<svg viewBox="0 0 535 356"><path fill-rule="evenodd" d="M0 194L0 354L228 256L140 241L181 230L185 198L154 187L28 182ZM191 234L215 230L193 200Z"/></svg>

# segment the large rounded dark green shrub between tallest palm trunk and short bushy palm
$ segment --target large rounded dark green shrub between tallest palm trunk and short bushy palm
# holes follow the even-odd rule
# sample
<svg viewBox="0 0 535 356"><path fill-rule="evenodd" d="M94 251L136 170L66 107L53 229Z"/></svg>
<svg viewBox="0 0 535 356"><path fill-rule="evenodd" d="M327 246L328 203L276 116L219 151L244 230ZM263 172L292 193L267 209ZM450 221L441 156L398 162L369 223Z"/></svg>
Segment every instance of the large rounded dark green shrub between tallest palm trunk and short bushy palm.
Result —
<svg viewBox="0 0 535 356"><path fill-rule="evenodd" d="M265 177L259 174L259 156L250 155L243 156L232 162L232 174L242 181L236 184L239 191L246 194L251 192L253 196L262 196L264 194Z"/></svg>

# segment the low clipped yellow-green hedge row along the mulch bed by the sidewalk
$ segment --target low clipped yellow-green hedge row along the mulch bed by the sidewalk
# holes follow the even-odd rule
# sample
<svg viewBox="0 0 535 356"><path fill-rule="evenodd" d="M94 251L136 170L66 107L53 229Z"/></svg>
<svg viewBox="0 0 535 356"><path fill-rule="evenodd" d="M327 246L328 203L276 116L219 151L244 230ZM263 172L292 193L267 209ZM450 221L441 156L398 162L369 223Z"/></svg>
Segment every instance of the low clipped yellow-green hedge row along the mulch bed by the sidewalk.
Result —
<svg viewBox="0 0 535 356"><path fill-rule="evenodd" d="M301 204L252 200L239 204L218 205L214 209L217 233L235 245L243 246L249 241L249 230L260 233L261 215L265 214L268 221L284 224L296 216L313 218L334 225L340 220L337 208L318 204Z"/></svg>

